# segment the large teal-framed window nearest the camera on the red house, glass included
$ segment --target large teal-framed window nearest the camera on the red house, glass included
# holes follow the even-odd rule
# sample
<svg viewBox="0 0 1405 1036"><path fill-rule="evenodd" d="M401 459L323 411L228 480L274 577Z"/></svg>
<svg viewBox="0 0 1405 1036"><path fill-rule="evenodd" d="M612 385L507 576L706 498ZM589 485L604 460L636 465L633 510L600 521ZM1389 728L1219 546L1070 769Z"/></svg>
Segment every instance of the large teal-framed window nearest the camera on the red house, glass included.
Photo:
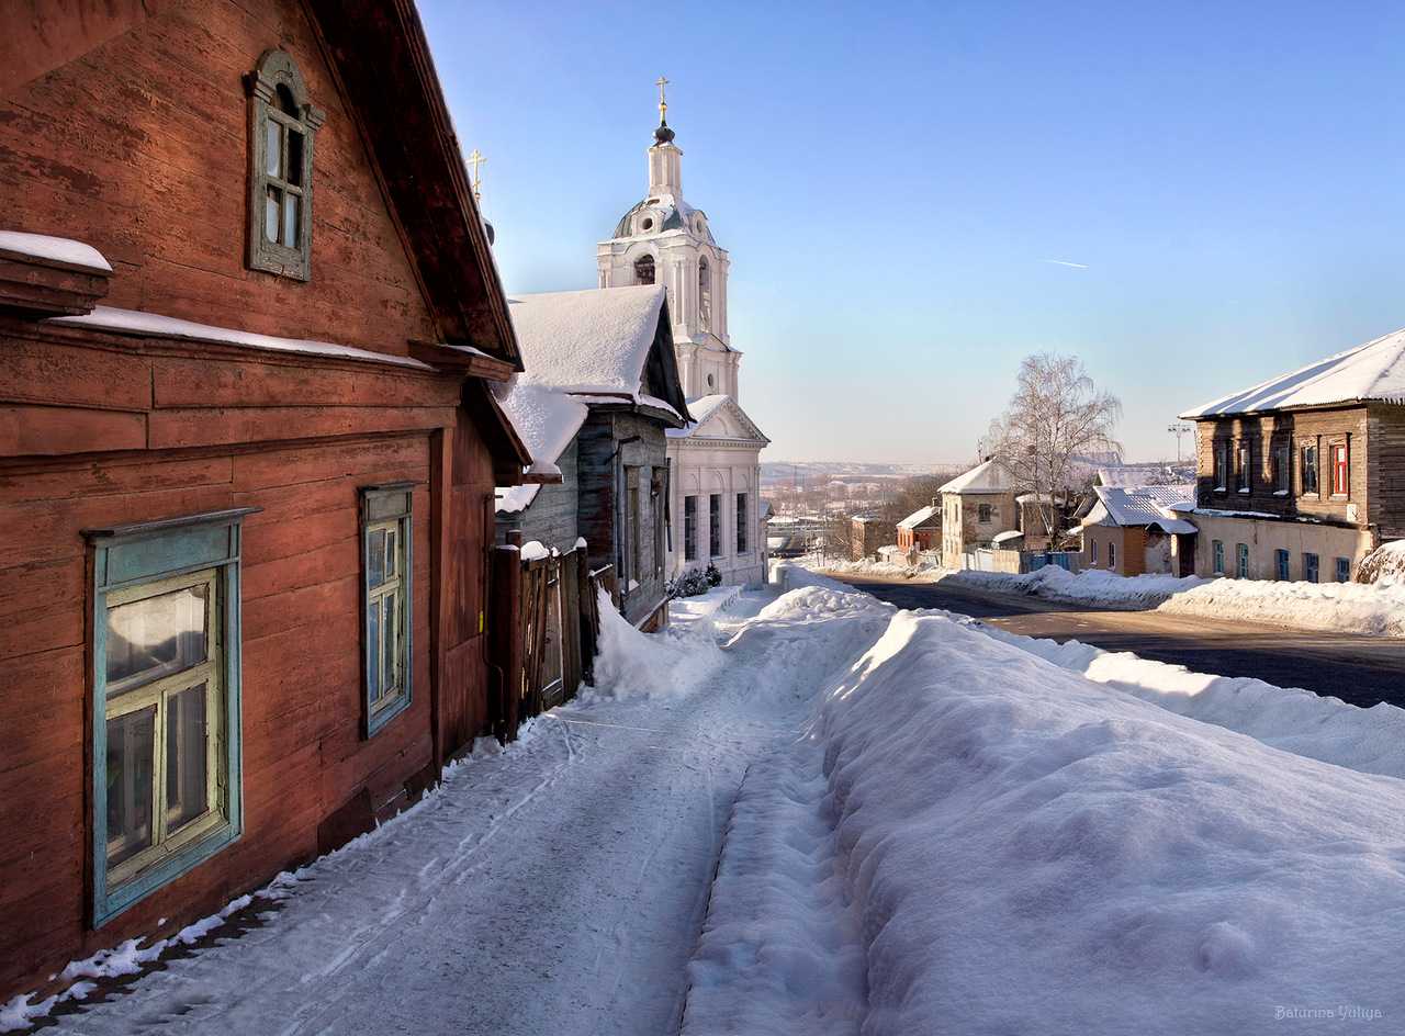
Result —
<svg viewBox="0 0 1405 1036"><path fill-rule="evenodd" d="M93 927L243 830L239 546L215 511L93 549Z"/></svg>

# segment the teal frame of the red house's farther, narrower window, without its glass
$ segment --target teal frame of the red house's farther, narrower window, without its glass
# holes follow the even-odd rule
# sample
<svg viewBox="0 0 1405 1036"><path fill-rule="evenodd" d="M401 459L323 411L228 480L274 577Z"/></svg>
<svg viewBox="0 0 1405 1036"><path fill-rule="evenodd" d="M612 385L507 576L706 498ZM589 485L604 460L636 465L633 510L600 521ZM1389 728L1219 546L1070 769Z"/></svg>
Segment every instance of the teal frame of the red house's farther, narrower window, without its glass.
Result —
<svg viewBox="0 0 1405 1036"><path fill-rule="evenodd" d="M371 738L410 708L414 691L414 522L413 482L362 486L361 494L361 730ZM371 539L375 532L393 532L396 574L371 585ZM388 542L388 539L386 539ZM389 556L389 546L386 547ZM382 574L385 573L382 559ZM395 657L385 657L385 623L378 618L378 636L371 636L371 613L384 613L382 602L399 595L395 616ZM372 695L371 674L377 674ZM386 685L386 677L393 677Z"/></svg>

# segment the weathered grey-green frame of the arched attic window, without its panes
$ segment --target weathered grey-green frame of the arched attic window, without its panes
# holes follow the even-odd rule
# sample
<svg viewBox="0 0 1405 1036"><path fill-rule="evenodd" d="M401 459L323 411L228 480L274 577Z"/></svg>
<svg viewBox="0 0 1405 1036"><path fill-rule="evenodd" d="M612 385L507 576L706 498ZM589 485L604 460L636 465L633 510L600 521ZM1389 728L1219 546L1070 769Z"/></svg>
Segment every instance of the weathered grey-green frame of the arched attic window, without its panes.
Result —
<svg viewBox="0 0 1405 1036"><path fill-rule="evenodd" d="M295 281L312 279L312 152L318 129L326 112L308 100L302 73L287 51L264 51L254 70L246 76L249 87L249 241L246 261L250 270L288 277ZM292 97L295 114L282 111L278 90ZM268 125L280 128L278 175L268 173ZM288 175L288 132L302 135L302 161L298 181ZM298 241L289 246L270 241L264 227L264 208L270 190L299 198ZM278 208L280 236L284 227L284 208Z"/></svg>

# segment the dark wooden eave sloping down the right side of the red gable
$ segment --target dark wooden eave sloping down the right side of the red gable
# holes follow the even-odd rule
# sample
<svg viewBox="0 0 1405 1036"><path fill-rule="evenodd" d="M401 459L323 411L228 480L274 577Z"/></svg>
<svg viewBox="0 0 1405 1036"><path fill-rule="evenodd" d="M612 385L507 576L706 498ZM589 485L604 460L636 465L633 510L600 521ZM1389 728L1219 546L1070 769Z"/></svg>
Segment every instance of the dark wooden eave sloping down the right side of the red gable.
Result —
<svg viewBox="0 0 1405 1036"><path fill-rule="evenodd" d="M440 338L521 369L507 296L413 0L303 0Z"/></svg>

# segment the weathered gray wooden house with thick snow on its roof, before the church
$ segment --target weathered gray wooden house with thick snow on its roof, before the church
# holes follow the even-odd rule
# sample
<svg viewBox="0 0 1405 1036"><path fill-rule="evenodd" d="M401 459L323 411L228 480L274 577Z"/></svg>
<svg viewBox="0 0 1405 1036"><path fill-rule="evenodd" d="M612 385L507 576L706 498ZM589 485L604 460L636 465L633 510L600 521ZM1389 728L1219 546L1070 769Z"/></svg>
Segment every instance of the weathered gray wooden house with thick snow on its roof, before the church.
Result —
<svg viewBox="0 0 1405 1036"><path fill-rule="evenodd" d="M667 619L665 430L691 420L663 288L517 295L510 312L525 371L500 401L532 465L525 484L497 491L499 542L520 532L527 559L586 552L590 571L610 570L625 618L656 629Z"/></svg>

